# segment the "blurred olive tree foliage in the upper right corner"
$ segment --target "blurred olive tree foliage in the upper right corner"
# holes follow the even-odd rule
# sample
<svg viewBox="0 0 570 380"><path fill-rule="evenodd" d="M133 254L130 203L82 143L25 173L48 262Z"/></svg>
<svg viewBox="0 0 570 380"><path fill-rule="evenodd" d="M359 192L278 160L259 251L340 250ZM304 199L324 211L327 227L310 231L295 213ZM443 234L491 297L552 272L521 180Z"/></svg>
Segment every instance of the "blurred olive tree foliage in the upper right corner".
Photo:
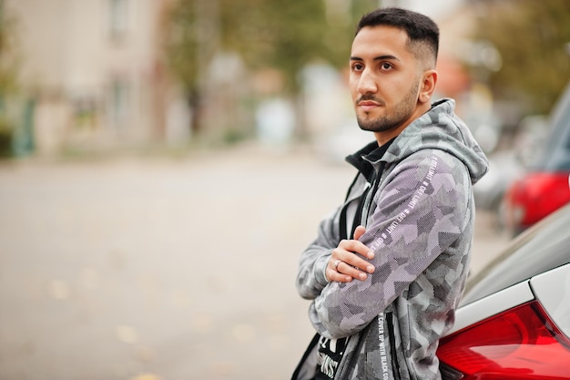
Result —
<svg viewBox="0 0 570 380"><path fill-rule="evenodd" d="M546 113L570 80L570 1L486 0L478 37L491 41L503 65L490 77L499 97L526 99Z"/></svg>

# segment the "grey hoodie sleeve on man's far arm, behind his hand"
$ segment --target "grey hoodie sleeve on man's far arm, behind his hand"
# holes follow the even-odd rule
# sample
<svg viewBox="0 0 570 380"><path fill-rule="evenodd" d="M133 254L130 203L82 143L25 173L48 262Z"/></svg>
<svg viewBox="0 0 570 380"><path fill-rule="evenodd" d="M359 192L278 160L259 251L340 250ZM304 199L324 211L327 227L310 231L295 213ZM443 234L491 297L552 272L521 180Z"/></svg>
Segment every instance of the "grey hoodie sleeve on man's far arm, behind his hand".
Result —
<svg viewBox="0 0 570 380"><path fill-rule="evenodd" d="M302 298L313 300L329 283L325 269L332 250L339 244L338 213L341 208L321 221L317 239L301 254L297 273L297 291Z"/></svg>

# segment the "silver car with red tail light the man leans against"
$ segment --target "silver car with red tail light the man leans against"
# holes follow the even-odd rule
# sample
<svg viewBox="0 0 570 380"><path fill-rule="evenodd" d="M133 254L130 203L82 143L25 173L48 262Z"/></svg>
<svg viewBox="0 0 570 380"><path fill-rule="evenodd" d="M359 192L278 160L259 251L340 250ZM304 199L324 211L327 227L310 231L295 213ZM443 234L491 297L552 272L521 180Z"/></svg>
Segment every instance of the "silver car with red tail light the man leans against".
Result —
<svg viewBox="0 0 570 380"><path fill-rule="evenodd" d="M570 379L570 205L469 279L438 356L443 380Z"/></svg>

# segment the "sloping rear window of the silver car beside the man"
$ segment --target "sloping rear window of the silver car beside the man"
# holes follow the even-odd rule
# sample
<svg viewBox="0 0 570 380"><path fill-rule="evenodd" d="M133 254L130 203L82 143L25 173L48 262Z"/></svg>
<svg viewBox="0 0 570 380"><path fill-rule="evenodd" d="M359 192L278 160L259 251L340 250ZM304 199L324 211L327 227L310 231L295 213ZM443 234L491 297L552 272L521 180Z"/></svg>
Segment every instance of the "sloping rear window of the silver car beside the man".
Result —
<svg viewBox="0 0 570 380"><path fill-rule="evenodd" d="M570 205L515 239L481 272L469 278L462 304L570 262Z"/></svg>

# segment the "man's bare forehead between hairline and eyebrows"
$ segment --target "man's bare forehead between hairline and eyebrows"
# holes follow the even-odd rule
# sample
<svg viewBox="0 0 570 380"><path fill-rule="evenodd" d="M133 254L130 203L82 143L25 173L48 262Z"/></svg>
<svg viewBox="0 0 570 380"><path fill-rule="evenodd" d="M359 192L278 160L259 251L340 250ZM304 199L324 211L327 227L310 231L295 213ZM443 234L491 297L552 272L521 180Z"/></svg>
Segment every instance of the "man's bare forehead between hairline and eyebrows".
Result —
<svg viewBox="0 0 570 380"><path fill-rule="evenodd" d="M408 35L394 26L366 26L352 41L351 56L362 59L376 56L410 58Z"/></svg>

